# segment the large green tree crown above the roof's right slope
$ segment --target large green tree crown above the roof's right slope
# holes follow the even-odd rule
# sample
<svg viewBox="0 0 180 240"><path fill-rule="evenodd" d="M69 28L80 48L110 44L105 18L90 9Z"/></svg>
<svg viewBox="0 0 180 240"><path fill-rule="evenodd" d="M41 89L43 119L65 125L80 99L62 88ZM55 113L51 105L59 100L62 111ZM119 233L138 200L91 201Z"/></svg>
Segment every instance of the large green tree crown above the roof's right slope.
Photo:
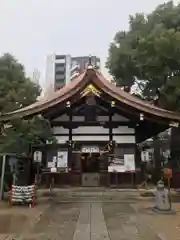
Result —
<svg viewBox="0 0 180 240"><path fill-rule="evenodd" d="M110 45L107 67L117 84L136 84L147 98L159 88L161 106L178 110L180 5L170 1L148 15L130 16L128 31L118 32Z"/></svg>

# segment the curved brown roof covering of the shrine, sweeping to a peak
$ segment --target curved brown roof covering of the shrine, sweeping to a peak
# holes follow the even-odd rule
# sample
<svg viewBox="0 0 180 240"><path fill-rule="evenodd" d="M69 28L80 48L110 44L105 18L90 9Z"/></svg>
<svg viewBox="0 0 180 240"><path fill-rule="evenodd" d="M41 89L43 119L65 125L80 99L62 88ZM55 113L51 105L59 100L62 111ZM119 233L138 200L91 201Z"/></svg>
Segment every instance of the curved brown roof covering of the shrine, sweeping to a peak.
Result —
<svg viewBox="0 0 180 240"><path fill-rule="evenodd" d="M94 81L99 88L111 95L115 101L120 101L136 110L162 117L169 121L180 121L179 113L158 108L147 101L132 96L109 82L100 71L95 69L86 69L83 73L74 78L70 84L66 85L57 92L53 92L50 95L45 96L32 105L1 115L0 121L8 121L15 117L25 117L32 114L39 114L43 110L70 99L78 91L83 90L88 81Z"/></svg>

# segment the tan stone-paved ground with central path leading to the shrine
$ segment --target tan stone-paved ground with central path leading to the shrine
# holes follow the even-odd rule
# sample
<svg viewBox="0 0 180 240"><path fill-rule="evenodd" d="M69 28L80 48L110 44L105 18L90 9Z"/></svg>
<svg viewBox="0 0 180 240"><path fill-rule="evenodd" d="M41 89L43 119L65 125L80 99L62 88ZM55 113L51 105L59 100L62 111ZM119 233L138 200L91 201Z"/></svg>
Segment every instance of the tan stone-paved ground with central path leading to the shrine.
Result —
<svg viewBox="0 0 180 240"><path fill-rule="evenodd" d="M177 240L176 215L153 213L135 191L61 190L35 208L0 205L0 240Z"/></svg>

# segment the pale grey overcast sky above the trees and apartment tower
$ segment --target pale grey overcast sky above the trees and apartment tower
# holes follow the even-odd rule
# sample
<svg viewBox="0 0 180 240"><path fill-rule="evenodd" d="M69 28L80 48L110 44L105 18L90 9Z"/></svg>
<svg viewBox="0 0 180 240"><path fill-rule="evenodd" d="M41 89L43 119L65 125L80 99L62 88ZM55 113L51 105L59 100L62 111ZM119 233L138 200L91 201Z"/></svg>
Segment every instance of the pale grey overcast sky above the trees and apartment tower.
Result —
<svg viewBox="0 0 180 240"><path fill-rule="evenodd" d="M176 3L178 1L175 1ZM0 0L0 53L18 58L29 75L50 53L97 55L102 71L108 46L128 16L151 12L163 0Z"/></svg>

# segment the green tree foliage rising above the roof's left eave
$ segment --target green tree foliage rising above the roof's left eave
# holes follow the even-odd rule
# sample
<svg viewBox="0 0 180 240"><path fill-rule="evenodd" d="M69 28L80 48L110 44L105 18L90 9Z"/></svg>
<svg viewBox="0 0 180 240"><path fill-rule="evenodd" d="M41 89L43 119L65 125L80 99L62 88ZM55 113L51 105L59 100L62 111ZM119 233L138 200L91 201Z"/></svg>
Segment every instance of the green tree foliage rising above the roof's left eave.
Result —
<svg viewBox="0 0 180 240"><path fill-rule="evenodd" d="M40 87L25 76L24 67L13 56L0 57L1 114L35 102L40 93Z"/></svg>

